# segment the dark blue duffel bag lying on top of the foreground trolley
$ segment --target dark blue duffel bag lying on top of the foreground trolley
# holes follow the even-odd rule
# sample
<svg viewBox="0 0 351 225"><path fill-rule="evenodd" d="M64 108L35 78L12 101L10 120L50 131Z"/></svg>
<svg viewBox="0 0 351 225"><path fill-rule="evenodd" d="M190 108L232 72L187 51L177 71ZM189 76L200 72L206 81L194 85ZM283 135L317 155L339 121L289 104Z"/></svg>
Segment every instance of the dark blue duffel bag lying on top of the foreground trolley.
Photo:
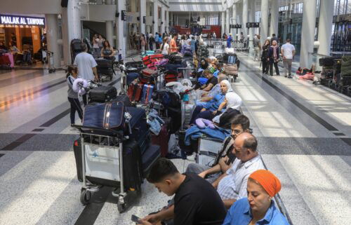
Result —
<svg viewBox="0 0 351 225"><path fill-rule="evenodd" d="M83 125L91 128L124 129L123 102L88 104L84 109Z"/></svg>

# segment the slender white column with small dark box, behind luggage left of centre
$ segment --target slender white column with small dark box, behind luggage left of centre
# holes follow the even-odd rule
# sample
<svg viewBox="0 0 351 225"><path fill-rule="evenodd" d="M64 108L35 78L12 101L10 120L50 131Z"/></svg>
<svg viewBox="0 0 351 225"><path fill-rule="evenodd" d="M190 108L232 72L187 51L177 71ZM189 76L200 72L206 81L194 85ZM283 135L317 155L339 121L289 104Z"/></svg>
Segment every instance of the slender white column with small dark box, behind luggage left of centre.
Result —
<svg viewBox="0 0 351 225"><path fill-rule="evenodd" d="M124 32L124 27L126 27L126 21L122 21L122 11L126 10L126 0L118 0L117 8L119 12L119 18L117 18L117 32L118 32L118 49L122 57L126 57L126 32Z"/></svg>

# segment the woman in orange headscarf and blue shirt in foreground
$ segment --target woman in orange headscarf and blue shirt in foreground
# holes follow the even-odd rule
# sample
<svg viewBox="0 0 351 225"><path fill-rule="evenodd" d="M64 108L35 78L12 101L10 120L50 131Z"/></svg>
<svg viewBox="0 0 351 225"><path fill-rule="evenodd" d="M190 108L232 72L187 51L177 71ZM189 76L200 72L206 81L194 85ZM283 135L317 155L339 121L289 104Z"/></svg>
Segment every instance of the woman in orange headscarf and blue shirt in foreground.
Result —
<svg viewBox="0 0 351 225"><path fill-rule="evenodd" d="M247 182L247 198L237 200L223 225L289 225L272 198L282 189L279 179L268 170L256 170Z"/></svg>

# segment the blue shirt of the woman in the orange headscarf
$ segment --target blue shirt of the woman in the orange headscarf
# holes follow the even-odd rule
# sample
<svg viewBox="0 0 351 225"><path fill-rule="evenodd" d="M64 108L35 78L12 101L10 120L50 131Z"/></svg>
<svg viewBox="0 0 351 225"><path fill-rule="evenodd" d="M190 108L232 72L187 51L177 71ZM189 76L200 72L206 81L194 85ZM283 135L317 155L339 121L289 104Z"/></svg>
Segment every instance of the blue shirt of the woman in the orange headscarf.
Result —
<svg viewBox="0 0 351 225"><path fill-rule="evenodd" d="M249 205L249 200L247 198L241 198L237 200L230 210L227 212L225 221L223 225L242 225L249 224L252 220L252 212ZM275 207L274 201L270 204L265 217L256 222L256 224L265 225L289 225L282 212L279 212L277 207Z"/></svg>

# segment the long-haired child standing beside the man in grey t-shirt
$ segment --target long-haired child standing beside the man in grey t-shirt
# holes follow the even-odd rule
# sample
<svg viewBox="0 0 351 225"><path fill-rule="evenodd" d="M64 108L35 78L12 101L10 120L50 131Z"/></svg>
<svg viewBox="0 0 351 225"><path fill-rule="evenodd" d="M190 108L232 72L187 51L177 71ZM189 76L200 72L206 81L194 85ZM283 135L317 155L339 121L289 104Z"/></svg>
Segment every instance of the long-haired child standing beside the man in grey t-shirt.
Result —
<svg viewBox="0 0 351 225"><path fill-rule="evenodd" d="M83 110L81 109L81 103L78 99L78 93L75 93L72 89L73 82L77 79L77 76L78 68L75 65L69 65L66 78L68 84L68 101L71 104L71 125L74 125L76 111L78 112L79 118L83 120Z"/></svg>

